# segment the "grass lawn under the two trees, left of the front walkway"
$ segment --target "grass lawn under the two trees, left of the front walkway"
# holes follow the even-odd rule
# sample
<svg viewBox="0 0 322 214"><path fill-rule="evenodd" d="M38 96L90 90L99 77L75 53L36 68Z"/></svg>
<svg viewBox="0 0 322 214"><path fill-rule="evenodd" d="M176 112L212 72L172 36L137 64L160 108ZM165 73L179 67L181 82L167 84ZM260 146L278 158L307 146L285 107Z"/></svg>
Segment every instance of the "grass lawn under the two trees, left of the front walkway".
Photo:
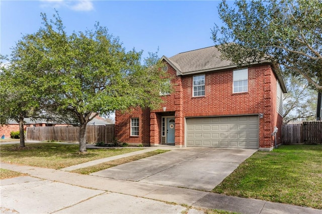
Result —
<svg viewBox="0 0 322 214"><path fill-rule="evenodd" d="M78 153L79 145L60 143L26 143L26 147L1 145L1 161L29 166L60 169L79 163L142 150L140 148L87 149Z"/></svg>

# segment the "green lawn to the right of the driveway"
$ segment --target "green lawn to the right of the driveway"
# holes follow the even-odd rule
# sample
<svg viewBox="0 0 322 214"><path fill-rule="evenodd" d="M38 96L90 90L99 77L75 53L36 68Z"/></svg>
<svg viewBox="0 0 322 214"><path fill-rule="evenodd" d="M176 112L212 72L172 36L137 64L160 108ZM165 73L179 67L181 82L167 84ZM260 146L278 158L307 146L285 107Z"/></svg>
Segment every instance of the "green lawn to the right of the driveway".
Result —
<svg viewBox="0 0 322 214"><path fill-rule="evenodd" d="M322 209L322 145L258 151L212 191Z"/></svg>

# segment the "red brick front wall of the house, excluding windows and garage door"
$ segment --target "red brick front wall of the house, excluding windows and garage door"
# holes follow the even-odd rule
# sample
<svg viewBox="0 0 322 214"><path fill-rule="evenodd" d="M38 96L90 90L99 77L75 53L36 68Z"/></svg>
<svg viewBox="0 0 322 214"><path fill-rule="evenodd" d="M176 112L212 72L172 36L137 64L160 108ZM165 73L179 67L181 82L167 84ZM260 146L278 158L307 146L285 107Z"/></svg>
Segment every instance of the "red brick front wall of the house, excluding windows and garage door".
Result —
<svg viewBox="0 0 322 214"><path fill-rule="evenodd" d="M168 72L174 76L172 85L174 92L164 96L164 103L160 109L154 111L133 111L132 114L116 114L115 127L117 138L128 143L160 143L160 118L157 112L175 111L176 120L176 145L184 145L184 120L192 116L220 116L220 115L247 115L263 113L260 118L260 147L271 148L274 146L274 138L271 133L274 126L281 130L282 118L277 113L277 84L276 77L270 65L259 65L249 68L249 88L247 93L232 93L232 69L220 72L205 73L205 96L192 97L193 76L176 76L176 71L168 65ZM141 125L141 132L150 133L149 138L129 136L129 117L138 114L149 124ZM149 117L149 118L146 118ZM279 131L277 141L280 142Z"/></svg>

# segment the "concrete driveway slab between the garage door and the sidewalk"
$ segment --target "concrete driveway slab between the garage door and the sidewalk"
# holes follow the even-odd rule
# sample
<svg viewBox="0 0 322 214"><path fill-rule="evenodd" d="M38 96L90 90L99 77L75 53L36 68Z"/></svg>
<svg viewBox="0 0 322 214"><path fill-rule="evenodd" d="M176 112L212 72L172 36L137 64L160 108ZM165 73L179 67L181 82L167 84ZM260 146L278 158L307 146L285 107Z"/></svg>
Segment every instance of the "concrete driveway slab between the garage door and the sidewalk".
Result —
<svg viewBox="0 0 322 214"><path fill-rule="evenodd" d="M256 151L180 148L91 175L210 191Z"/></svg>

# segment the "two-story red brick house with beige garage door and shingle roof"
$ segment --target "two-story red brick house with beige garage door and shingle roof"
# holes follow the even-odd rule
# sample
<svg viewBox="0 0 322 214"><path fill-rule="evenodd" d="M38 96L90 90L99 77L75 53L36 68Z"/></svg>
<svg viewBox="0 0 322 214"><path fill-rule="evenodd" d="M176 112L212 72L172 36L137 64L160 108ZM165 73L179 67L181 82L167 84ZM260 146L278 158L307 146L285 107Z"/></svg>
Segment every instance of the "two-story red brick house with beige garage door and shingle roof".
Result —
<svg viewBox="0 0 322 214"><path fill-rule="evenodd" d="M278 65L266 61L237 68L219 56L214 46L163 56L173 92L162 94L160 109L116 112L116 138L177 147L271 150L280 144L287 90Z"/></svg>

